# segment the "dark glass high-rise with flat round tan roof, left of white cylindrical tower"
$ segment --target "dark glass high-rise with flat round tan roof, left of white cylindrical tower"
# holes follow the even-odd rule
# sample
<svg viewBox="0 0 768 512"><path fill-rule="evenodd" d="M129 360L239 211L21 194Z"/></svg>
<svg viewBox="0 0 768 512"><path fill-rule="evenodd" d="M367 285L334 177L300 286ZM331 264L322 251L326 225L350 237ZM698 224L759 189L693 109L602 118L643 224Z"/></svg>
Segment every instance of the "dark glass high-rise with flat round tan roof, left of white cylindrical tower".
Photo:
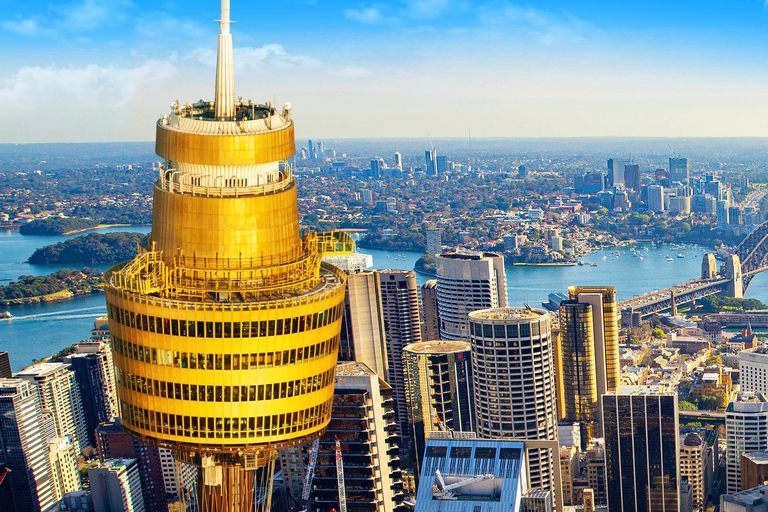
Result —
<svg viewBox="0 0 768 512"><path fill-rule="evenodd" d="M472 432L472 350L465 341L422 341L403 349L405 397L417 469L427 435Z"/></svg>

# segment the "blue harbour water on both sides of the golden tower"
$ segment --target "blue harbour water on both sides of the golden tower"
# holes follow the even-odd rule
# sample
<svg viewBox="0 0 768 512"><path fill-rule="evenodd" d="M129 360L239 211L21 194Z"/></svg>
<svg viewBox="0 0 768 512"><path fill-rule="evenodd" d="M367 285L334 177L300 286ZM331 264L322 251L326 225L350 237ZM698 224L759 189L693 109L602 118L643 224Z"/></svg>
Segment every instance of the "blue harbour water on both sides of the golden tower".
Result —
<svg viewBox="0 0 768 512"><path fill-rule="evenodd" d="M149 227L110 228L100 232L139 231ZM0 231L0 284L20 275L44 275L62 265L30 265L27 258L44 245L72 236L22 236L18 231ZM363 249L373 255L375 268L412 269L418 253ZM564 292L569 285L614 285L619 300L697 277L701 272L698 246L656 246L638 243L628 247L601 250L590 254L579 266L508 266L507 284L512 306L537 307L552 292ZM683 257L678 257L678 254ZM594 266L590 265L594 264ZM109 265L94 265L102 270ZM71 265L70 265L71 267ZM430 276L417 274L419 284ZM768 303L768 273L755 277L748 297ZM7 308L14 318L0 320L0 350L11 356L14 371L87 338L93 319L106 314L104 296L89 295L69 301L30 304Z"/></svg>

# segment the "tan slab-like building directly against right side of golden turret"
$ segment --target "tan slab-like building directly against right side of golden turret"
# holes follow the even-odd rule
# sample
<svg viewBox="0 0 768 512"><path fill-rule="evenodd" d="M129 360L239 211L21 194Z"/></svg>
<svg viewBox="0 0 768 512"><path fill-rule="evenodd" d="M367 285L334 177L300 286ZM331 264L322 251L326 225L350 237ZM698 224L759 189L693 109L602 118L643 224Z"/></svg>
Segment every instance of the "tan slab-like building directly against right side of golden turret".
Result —
<svg viewBox="0 0 768 512"><path fill-rule="evenodd" d="M375 271L362 270L347 276L339 360L362 361L389 379L381 285Z"/></svg>

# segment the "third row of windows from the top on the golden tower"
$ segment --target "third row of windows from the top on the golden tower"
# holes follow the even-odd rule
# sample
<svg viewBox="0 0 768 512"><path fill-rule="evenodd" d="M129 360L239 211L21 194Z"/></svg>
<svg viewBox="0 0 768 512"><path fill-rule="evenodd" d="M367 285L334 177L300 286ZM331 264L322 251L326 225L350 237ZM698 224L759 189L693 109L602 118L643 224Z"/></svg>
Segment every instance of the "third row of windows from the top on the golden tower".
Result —
<svg viewBox="0 0 768 512"><path fill-rule="evenodd" d="M258 386L203 386L146 379L130 373L123 376L122 371L118 371L117 383L137 393L160 398L192 402L262 402L313 393L329 386L334 376L335 369L330 369L313 377L289 382Z"/></svg>

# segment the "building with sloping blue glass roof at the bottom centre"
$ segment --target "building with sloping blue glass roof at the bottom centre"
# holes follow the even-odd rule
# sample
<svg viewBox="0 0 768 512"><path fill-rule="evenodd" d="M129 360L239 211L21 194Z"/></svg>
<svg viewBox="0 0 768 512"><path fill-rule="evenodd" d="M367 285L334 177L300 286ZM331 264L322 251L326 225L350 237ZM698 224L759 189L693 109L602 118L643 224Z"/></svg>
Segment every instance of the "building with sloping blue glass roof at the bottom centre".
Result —
<svg viewBox="0 0 768 512"><path fill-rule="evenodd" d="M415 512L522 511L523 442L442 434L427 439Z"/></svg>

